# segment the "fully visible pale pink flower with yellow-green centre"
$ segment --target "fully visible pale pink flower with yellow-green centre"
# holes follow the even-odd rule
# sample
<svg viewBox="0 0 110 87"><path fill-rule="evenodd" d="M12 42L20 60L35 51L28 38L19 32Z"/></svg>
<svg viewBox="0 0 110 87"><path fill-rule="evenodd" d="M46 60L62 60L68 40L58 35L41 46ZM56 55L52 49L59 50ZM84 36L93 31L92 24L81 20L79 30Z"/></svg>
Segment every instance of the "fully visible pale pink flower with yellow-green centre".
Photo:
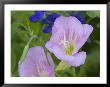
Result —
<svg viewBox="0 0 110 87"><path fill-rule="evenodd" d="M54 55L74 67L84 64L86 52L79 52L93 31L89 24L81 24L76 17L60 16L52 27L52 36L46 48Z"/></svg>

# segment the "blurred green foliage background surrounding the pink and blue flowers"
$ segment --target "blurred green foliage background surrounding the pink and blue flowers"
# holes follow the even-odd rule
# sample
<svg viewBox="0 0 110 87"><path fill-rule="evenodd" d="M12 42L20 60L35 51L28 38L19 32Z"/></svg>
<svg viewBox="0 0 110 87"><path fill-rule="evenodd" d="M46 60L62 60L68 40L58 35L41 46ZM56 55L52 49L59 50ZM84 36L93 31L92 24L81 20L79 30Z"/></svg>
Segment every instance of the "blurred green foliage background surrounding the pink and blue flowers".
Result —
<svg viewBox="0 0 110 87"><path fill-rule="evenodd" d="M63 61L58 60L51 53L55 63L56 76L62 77L96 77L100 76L100 12L99 11L48 11L45 15L58 13L64 16L80 12L86 23L93 26L94 30L88 39L87 43L81 50L87 52L87 59L84 65L78 68L72 68ZM29 41L33 32L38 38L31 41L29 48L33 46L44 46L50 39L51 33L44 34L43 28L47 24L39 22L30 22L29 16L33 15L34 11L12 11L11 12L11 75L19 76L18 62L23 53L23 49ZM75 74L76 72L76 74Z"/></svg>

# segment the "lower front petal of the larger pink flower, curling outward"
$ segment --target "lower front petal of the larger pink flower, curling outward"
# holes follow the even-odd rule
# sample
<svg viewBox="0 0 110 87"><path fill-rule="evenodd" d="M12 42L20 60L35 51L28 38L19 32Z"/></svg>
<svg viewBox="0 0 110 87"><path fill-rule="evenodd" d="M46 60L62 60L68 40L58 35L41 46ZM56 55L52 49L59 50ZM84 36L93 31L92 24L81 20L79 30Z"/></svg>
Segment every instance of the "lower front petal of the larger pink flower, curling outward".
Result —
<svg viewBox="0 0 110 87"><path fill-rule="evenodd" d="M68 56L66 55L66 53L57 45L53 46L53 50L52 52L54 53L54 55L62 60L62 61L66 61L69 65L74 66L74 67L78 67L82 64L85 63L85 59L86 59L86 52L79 52L76 53L74 55Z"/></svg>

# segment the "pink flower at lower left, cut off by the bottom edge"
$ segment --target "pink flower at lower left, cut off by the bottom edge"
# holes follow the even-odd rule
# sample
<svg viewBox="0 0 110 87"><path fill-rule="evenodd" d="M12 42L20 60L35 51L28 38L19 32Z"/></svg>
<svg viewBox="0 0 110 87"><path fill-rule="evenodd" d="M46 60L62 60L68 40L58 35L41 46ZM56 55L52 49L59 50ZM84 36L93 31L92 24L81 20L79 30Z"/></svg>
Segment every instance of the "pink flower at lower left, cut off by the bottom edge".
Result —
<svg viewBox="0 0 110 87"><path fill-rule="evenodd" d="M19 63L21 77L54 77L54 63L49 53L47 57L41 46L28 50L25 60Z"/></svg>

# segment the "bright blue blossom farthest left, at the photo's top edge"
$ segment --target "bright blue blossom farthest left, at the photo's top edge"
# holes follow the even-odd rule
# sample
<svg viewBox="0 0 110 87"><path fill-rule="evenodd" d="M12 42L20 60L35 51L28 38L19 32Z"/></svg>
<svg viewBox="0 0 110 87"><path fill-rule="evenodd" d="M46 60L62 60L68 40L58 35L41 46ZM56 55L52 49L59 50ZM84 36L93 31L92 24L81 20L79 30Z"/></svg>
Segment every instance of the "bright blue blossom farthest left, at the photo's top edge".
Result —
<svg viewBox="0 0 110 87"><path fill-rule="evenodd" d="M35 14L29 17L30 22L38 22L44 17L44 11L37 11Z"/></svg>

